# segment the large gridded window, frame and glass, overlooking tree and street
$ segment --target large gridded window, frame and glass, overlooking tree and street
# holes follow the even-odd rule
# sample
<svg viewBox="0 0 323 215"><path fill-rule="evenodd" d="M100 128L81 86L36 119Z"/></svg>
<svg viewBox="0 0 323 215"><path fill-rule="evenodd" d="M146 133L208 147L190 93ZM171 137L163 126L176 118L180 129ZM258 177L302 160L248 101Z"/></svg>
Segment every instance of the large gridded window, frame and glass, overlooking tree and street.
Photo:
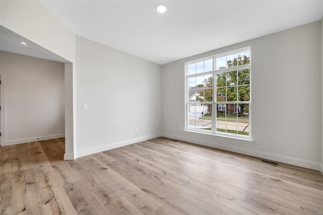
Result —
<svg viewBox="0 0 323 215"><path fill-rule="evenodd" d="M188 62L186 130L250 138L250 47Z"/></svg>

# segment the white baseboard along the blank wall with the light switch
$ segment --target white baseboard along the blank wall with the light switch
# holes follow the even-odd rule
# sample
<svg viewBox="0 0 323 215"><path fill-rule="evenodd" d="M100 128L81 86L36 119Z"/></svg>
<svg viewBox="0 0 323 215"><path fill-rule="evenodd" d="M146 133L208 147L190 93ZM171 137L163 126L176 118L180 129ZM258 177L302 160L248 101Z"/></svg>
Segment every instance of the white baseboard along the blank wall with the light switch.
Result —
<svg viewBox="0 0 323 215"><path fill-rule="evenodd" d="M130 139L130 140L122 141L122 142L117 142L117 143L113 143L113 144L109 144L109 145L104 145L104 146L100 146L100 147L80 150L80 151L77 151L77 157L82 157L82 156L86 156L89 154L94 154L97 152L106 151L106 150L110 150L113 148L118 148L118 147L130 145L133 143L137 143L137 142L141 142L141 141L145 141L145 140L150 140L150 139L160 137L160 136L161 136L160 134L153 134L153 135L149 135L149 136L134 138L134 139Z"/></svg>

